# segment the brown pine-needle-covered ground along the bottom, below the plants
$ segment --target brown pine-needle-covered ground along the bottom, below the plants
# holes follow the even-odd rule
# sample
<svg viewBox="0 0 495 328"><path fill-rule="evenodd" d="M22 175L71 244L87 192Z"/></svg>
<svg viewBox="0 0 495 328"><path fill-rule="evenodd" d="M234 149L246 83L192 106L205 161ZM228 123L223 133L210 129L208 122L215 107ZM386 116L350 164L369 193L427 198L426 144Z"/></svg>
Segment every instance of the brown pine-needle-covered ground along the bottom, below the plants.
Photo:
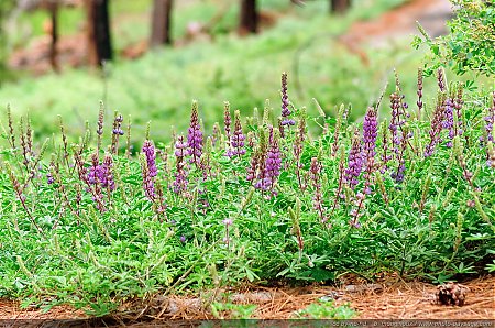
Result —
<svg viewBox="0 0 495 328"><path fill-rule="evenodd" d="M233 304L255 304L253 318L289 319L294 311L318 299L332 298L336 305L350 304L356 319L495 319L495 277L486 276L464 284L469 287L464 306L444 306L435 300L435 285L397 281L382 284L350 284L337 287L263 288L231 292ZM156 297L146 305L129 303L113 320L132 325L138 321L160 322L167 319L213 319L205 308L208 297ZM55 307L46 314L41 309L19 309L19 304L0 302L1 319L84 319L81 310ZM116 319L117 318L117 319ZM1 324L1 321L0 321ZM136 326L138 327L138 326Z"/></svg>

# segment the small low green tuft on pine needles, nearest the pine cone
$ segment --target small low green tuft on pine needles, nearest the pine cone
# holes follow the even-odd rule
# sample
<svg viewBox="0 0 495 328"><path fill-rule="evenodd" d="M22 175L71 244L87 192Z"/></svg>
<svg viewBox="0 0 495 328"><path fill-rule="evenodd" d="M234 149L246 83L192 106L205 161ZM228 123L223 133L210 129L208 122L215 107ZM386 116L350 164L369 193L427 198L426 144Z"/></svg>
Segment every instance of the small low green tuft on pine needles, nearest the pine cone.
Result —
<svg viewBox="0 0 495 328"><path fill-rule="evenodd" d="M296 318L301 319L337 319L349 320L354 318L355 311L349 305L336 306L331 299L319 299L306 308L294 313Z"/></svg>

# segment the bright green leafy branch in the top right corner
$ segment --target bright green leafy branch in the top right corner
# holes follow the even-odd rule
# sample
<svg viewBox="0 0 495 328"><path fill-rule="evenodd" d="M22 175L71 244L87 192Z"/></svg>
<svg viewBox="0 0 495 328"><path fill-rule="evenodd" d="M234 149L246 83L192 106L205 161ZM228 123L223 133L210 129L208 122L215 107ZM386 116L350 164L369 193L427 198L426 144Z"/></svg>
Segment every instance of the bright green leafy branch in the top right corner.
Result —
<svg viewBox="0 0 495 328"><path fill-rule="evenodd" d="M459 75L474 70L485 76L495 74L495 1L451 0L455 17L449 22L450 33L431 40L420 28L414 45L426 44L431 51L425 72L431 74L449 66Z"/></svg>

